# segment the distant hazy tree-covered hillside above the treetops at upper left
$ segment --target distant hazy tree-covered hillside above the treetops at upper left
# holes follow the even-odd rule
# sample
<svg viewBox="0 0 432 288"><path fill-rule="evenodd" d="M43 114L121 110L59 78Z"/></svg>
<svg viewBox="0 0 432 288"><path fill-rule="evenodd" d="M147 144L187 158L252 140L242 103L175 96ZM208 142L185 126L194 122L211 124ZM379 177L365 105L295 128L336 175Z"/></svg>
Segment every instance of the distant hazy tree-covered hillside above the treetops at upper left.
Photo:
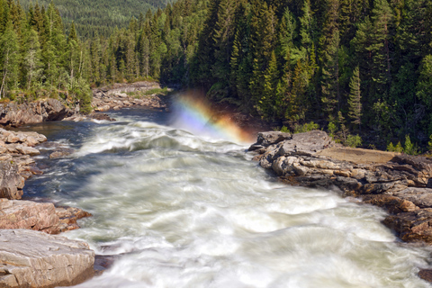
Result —
<svg viewBox="0 0 432 288"><path fill-rule="evenodd" d="M94 35L109 36L114 27L127 27L130 19L139 19L139 14L146 14L148 9L156 11L172 0L21 0L25 10L38 5L48 7L52 2L60 13L63 22L74 22L80 37ZM68 31L68 30L67 30Z"/></svg>

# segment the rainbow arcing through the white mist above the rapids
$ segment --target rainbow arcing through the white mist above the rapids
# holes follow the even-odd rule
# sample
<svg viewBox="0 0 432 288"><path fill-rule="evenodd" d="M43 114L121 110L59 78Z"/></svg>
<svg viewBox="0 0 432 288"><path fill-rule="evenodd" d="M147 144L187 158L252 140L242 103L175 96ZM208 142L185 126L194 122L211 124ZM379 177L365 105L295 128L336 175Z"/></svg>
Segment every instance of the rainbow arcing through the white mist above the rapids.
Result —
<svg viewBox="0 0 432 288"><path fill-rule="evenodd" d="M193 93L178 95L173 103L172 124L198 136L247 144L254 142L251 133L238 127L229 114L219 115L211 105Z"/></svg>

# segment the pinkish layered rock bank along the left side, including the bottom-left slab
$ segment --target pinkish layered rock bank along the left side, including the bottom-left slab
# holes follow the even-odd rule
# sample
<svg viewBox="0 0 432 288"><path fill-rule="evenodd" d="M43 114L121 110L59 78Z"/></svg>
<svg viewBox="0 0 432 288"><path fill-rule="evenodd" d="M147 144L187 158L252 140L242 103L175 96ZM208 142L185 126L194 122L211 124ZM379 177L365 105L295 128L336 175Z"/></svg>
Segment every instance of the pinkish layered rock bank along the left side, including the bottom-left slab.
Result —
<svg viewBox="0 0 432 288"><path fill-rule="evenodd" d="M72 285L94 275L94 251L85 242L48 235L77 229L76 220L91 215L20 200L25 179L42 173L32 156L46 140L36 132L0 129L0 287Z"/></svg>

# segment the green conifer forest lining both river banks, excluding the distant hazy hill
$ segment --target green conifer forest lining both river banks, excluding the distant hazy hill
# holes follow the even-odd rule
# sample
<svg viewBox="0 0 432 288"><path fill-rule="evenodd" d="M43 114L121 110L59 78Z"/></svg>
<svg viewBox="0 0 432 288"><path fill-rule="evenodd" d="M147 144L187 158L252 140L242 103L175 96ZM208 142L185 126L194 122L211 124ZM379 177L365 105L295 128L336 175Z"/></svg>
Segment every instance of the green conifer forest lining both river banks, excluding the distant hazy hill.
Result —
<svg viewBox="0 0 432 288"><path fill-rule="evenodd" d="M315 121L345 143L427 150L430 0L179 0L138 12L80 35L52 2L0 0L1 97L63 97L88 112L90 87L155 79L279 128Z"/></svg>

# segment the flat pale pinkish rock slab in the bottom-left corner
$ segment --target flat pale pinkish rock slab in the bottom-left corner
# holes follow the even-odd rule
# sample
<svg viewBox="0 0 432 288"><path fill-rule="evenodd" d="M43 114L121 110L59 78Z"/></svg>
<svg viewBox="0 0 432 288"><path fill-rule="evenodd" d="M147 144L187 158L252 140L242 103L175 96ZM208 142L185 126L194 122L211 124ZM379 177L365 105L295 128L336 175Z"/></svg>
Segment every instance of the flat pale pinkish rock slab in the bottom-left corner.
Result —
<svg viewBox="0 0 432 288"><path fill-rule="evenodd" d="M85 242L26 229L0 230L0 287L50 288L94 275L94 251Z"/></svg>

